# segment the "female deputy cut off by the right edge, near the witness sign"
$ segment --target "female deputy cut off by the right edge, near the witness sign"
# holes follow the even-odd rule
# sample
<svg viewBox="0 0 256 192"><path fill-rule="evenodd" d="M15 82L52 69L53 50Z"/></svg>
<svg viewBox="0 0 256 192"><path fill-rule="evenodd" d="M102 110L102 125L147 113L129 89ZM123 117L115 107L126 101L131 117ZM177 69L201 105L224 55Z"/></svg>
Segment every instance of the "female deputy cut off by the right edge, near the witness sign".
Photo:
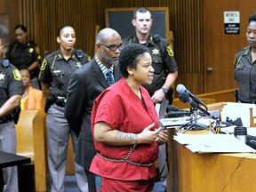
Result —
<svg viewBox="0 0 256 192"><path fill-rule="evenodd" d="M246 38L249 46L237 52L235 57L238 102L256 104L256 14L248 19Z"/></svg>

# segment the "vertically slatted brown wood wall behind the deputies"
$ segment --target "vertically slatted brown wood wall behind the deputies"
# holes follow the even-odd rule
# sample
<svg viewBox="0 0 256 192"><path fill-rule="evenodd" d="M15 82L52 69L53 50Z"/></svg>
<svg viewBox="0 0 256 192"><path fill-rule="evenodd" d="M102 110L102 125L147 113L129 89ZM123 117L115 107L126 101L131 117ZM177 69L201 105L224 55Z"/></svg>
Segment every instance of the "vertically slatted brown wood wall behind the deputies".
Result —
<svg viewBox="0 0 256 192"><path fill-rule="evenodd" d="M96 26L105 28L105 8L168 7L179 66L176 84L189 84L191 92L204 92L203 0L20 0L20 22L28 26L44 56L59 48L58 28L68 24L76 29L76 48L94 54ZM124 20L120 20L124 22ZM130 20L127 20L130 22ZM132 33L132 32L131 32ZM199 91L200 90L200 91Z"/></svg>

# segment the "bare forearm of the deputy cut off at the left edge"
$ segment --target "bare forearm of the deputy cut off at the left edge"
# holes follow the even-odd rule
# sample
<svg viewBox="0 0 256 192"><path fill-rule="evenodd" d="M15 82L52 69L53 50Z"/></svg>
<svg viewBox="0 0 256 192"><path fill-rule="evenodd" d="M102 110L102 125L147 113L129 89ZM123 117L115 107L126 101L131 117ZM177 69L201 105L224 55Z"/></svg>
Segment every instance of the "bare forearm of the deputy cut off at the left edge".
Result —
<svg viewBox="0 0 256 192"><path fill-rule="evenodd" d="M10 114L14 108L20 106L20 99L21 95L13 95L9 100L6 100L0 108L0 117Z"/></svg>

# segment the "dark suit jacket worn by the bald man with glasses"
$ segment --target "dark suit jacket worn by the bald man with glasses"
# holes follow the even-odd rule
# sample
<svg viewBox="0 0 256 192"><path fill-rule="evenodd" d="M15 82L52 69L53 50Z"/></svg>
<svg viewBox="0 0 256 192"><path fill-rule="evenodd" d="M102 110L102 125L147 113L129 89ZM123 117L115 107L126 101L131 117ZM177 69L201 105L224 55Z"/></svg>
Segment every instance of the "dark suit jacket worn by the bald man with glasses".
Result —
<svg viewBox="0 0 256 192"><path fill-rule="evenodd" d="M115 80L122 75L118 66L114 66ZM95 58L82 68L78 68L70 77L65 116L70 128L76 132L76 163L89 171L96 151L92 140L91 114L94 100L108 88L107 80Z"/></svg>

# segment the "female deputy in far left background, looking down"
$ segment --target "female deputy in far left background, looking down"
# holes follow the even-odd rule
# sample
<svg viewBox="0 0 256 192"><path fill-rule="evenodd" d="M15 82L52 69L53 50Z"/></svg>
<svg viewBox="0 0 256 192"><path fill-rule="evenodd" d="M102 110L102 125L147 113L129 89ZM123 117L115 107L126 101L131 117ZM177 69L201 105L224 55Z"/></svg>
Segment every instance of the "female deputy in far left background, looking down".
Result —
<svg viewBox="0 0 256 192"><path fill-rule="evenodd" d="M28 68L30 72L30 84L39 89L38 74L41 64L39 48L34 41L27 41L28 29L23 25L14 28L16 41L8 46L4 58L20 70Z"/></svg>

